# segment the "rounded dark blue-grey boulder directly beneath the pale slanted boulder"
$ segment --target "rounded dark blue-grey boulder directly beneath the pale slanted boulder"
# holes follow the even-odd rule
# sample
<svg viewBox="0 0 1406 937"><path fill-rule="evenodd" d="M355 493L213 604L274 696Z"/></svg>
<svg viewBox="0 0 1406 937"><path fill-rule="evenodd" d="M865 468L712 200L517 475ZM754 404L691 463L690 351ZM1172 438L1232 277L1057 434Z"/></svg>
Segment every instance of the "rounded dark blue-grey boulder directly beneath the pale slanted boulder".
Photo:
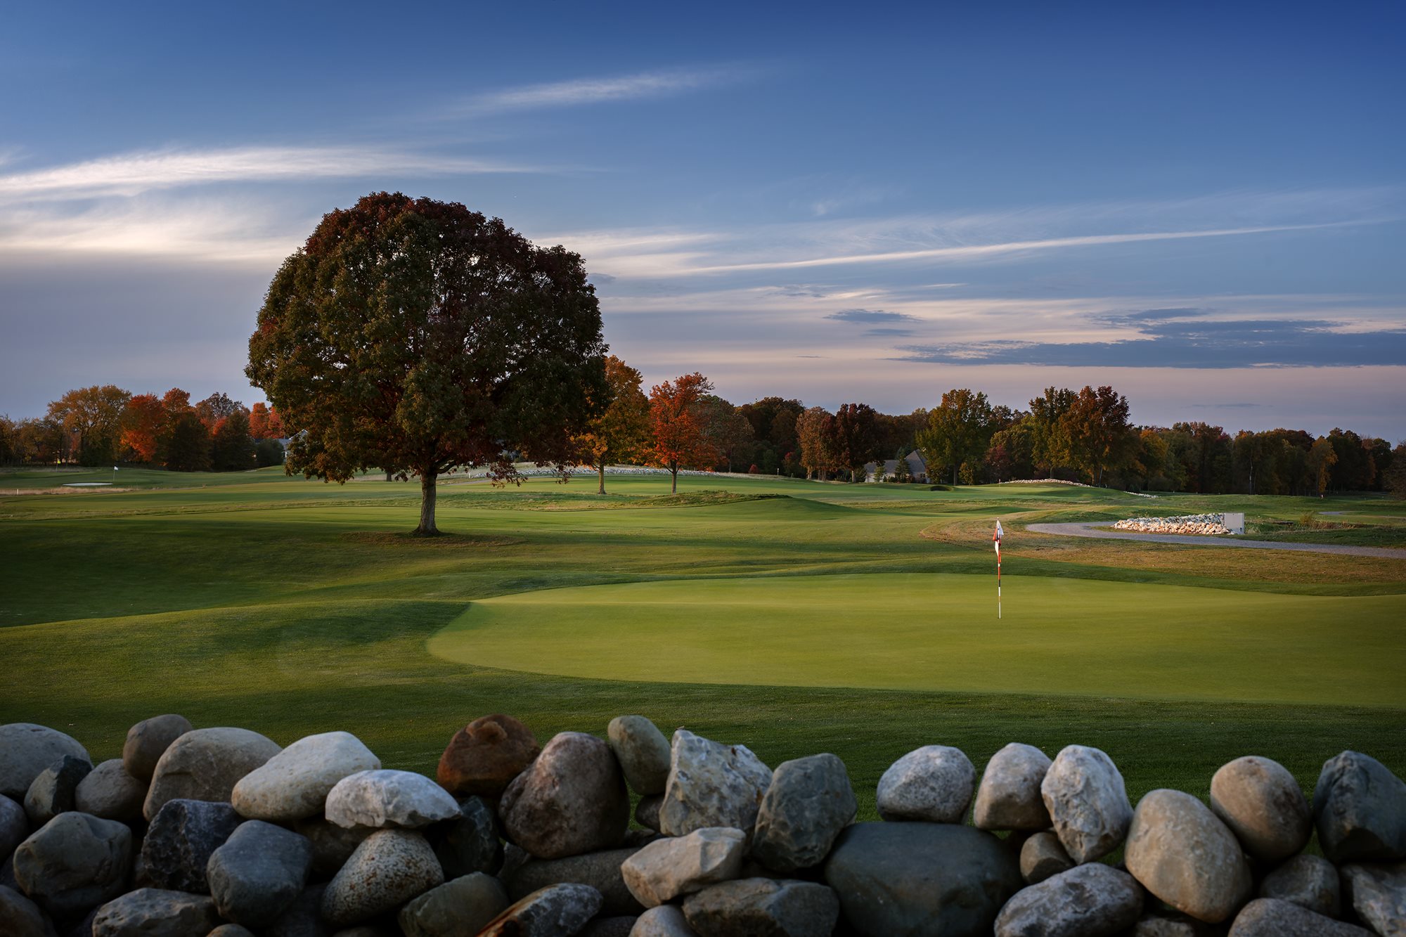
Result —
<svg viewBox="0 0 1406 937"><path fill-rule="evenodd" d="M312 843L281 826L249 820L205 867L219 916L246 927L271 924L302 893Z"/></svg>

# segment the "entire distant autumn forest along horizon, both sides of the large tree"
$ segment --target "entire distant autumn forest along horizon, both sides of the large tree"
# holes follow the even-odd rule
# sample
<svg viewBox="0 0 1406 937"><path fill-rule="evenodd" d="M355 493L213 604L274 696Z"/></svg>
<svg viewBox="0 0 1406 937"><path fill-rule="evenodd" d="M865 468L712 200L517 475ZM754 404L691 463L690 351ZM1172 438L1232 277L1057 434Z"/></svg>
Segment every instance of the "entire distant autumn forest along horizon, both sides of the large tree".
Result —
<svg viewBox="0 0 1406 937"><path fill-rule="evenodd" d="M927 481L984 484L1063 478L1129 491L1289 494L1395 491L1406 497L1406 443L1333 429L1227 432L1206 422L1136 426L1112 387L1047 387L1026 409L953 388L931 409L882 414L868 404L834 412L763 397L734 405L702 374L651 388L607 359L614 398L582 435L582 461L863 481L865 466L897 460L890 481L918 481L904 460L918 452ZM295 428L294 428L295 429ZM266 404L225 394L195 404L173 388L131 394L114 385L73 390L39 418L0 416L0 464L145 464L174 471L236 471L280 464L283 426ZM530 453L522 453L530 460Z"/></svg>

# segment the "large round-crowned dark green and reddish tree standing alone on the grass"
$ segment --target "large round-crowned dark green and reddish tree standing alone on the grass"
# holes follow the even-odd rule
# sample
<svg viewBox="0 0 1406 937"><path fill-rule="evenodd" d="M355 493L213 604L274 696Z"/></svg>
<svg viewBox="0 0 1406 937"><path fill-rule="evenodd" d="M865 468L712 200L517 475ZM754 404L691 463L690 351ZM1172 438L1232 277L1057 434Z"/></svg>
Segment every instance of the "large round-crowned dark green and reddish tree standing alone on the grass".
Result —
<svg viewBox="0 0 1406 937"><path fill-rule="evenodd" d="M578 255L498 218L399 193L323 217L269 287L246 374L299 433L285 468L344 483L380 467L436 480L516 456L562 473L606 398L595 288Z"/></svg>

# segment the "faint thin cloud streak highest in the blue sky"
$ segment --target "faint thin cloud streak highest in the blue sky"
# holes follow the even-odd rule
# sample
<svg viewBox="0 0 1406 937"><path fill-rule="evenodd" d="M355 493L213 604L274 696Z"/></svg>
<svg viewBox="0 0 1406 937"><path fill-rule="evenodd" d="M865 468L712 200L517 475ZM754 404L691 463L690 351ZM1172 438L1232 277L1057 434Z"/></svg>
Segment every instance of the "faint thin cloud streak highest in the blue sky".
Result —
<svg viewBox="0 0 1406 937"><path fill-rule="evenodd" d="M498 114L659 98L731 84L747 80L755 73L755 68L731 65L544 82L475 94L450 108L447 115Z"/></svg>

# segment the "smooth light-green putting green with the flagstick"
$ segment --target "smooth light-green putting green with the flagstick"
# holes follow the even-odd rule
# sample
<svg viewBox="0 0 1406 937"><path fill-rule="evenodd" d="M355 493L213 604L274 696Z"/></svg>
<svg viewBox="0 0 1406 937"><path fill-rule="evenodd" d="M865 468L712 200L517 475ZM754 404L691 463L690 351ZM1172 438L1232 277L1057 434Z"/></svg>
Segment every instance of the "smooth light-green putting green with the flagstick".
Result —
<svg viewBox="0 0 1406 937"><path fill-rule="evenodd" d="M474 602L432 654L602 680L1406 706L1406 597L1039 577L666 580Z"/></svg>

